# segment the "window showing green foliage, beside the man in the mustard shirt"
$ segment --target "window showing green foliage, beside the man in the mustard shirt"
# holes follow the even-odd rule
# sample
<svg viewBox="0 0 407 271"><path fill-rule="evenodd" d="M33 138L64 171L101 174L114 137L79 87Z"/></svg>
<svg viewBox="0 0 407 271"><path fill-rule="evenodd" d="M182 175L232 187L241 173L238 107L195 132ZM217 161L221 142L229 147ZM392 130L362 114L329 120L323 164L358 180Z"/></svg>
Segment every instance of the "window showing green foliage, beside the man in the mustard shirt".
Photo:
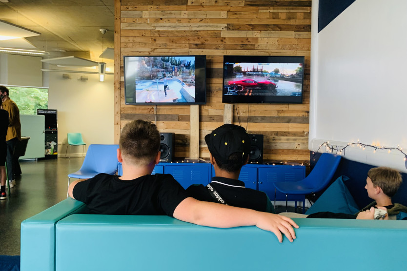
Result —
<svg viewBox="0 0 407 271"><path fill-rule="evenodd" d="M20 115L37 115L37 109L48 109L47 88L7 87Z"/></svg>

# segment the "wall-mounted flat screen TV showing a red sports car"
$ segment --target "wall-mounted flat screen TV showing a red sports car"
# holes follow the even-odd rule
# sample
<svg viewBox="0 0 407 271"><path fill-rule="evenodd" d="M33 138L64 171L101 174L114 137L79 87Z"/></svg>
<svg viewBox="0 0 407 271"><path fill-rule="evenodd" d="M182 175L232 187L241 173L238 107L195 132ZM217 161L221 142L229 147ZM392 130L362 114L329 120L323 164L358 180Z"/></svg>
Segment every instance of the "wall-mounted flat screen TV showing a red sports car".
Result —
<svg viewBox="0 0 407 271"><path fill-rule="evenodd" d="M304 57L224 56L224 103L302 103Z"/></svg>

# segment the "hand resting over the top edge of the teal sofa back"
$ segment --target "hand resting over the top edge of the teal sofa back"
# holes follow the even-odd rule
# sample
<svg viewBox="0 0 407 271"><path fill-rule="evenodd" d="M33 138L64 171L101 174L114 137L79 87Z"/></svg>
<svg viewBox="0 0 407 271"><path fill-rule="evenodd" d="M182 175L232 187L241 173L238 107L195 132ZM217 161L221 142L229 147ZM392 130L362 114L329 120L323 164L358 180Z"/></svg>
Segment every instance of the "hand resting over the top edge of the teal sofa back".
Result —
<svg viewBox="0 0 407 271"><path fill-rule="evenodd" d="M285 237L287 237L290 242L296 238L292 227L298 229L298 225L291 218L274 213L262 213L262 215L263 214L264 217L256 223L256 227L265 231L273 232L280 243L283 242L282 233L284 233Z"/></svg>

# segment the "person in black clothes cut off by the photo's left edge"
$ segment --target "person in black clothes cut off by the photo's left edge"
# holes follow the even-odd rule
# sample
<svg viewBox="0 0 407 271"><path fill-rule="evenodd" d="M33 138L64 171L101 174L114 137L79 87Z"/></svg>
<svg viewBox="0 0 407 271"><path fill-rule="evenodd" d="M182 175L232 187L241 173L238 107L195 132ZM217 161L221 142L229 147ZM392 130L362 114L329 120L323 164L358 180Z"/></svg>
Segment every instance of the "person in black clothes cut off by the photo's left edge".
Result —
<svg viewBox="0 0 407 271"><path fill-rule="evenodd" d="M0 199L6 199L6 157L7 157L7 144L6 135L9 125L8 112L1 106L0 99Z"/></svg>

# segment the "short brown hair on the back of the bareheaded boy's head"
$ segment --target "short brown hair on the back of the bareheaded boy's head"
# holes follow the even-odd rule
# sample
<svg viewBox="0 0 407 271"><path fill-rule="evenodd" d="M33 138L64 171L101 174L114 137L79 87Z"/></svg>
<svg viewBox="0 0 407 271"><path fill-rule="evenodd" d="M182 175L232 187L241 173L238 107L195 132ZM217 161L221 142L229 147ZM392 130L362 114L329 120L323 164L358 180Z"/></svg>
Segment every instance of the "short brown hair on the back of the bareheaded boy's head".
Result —
<svg viewBox="0 0 407 271"><path fill-rule="evenodd" d="M151 121L138 119L123 127L119 146L124 159L132 164L148 165L156 158L160 142L157 126Z"/></svg>

